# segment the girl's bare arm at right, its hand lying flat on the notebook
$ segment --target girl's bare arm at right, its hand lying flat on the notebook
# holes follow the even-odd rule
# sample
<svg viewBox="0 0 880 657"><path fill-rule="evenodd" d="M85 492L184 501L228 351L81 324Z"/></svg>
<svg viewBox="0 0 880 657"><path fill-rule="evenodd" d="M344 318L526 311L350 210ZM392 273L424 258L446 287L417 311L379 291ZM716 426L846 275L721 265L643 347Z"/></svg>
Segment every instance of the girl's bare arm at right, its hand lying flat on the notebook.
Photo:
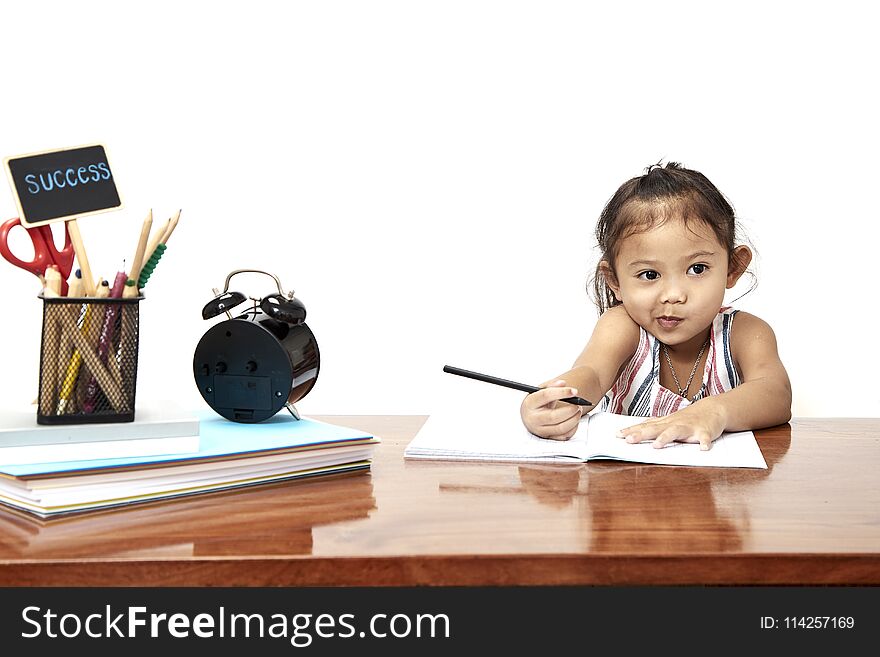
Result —
<svg viewBox="0 0 880 657"><path fill-rule="evenodd" d="M709 449L723 431L772 427L791 419L791 383L779 359L776 336L762 319L737 313L731 333L734 361L742 383L720 395L704 397L687 408L624 429L629 442L654 440L655 447L673 441L699 442Z"/></svg>

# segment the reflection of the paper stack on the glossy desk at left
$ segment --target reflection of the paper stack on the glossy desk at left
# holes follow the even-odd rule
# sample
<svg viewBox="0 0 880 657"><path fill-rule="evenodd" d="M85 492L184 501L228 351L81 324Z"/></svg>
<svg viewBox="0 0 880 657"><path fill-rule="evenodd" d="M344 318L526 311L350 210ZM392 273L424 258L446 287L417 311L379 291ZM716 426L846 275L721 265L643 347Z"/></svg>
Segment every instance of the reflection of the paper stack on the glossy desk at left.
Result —
<svg viewBox="0 0 880 657"><path fill-rule="evenodd" d="M0 547L29 559L308 555L315 527L376 508L364 473L292 483L48 520L2 508Z"/></svg>

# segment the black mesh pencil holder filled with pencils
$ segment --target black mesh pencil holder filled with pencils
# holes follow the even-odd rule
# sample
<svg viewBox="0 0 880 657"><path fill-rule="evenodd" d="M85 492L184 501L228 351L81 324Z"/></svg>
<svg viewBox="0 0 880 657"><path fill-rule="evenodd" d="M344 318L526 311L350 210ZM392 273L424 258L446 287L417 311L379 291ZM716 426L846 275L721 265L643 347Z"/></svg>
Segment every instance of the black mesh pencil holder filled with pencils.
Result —
<svg viewBox="0 0 880 657"><path fill-rule="evenodd" d="M40 298L37 423L134 420L138 304L143 297Z"/></svg>

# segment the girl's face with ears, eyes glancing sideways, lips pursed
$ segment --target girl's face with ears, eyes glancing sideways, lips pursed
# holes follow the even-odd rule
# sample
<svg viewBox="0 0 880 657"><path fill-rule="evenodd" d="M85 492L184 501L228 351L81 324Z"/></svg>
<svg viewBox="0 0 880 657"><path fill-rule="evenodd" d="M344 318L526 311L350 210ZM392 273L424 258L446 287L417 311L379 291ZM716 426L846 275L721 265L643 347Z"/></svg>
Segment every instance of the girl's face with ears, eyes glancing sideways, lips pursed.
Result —
<svg viewBox="0 0 880 657"><path fill-rule="evenodd" d="M616 280L606 280L642 328L670 347L697 350L724 302L724 290L751 261L748 247L736 251L737 266L729 271L730 254L708 225L673 218L624 238Z"/></svg>

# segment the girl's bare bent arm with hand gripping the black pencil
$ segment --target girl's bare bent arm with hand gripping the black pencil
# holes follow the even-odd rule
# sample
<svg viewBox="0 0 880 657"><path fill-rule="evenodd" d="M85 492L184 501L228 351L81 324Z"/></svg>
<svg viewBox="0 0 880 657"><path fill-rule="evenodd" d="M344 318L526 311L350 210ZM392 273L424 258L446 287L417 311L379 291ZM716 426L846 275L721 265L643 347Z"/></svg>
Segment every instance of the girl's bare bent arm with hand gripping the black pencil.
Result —
<svg viewBox="0 0 880 657"><path fill-rule="evenodd" d="M594 404L614 385L620 368L629 361L639 344L639 326L623 306L603 314L581 355L567 372L542 384L542 390L528 395L520 407L526 428L536 436L568 440L577 431L581 409L589 407L560 403L565 397L579 396Z"/></svg>

